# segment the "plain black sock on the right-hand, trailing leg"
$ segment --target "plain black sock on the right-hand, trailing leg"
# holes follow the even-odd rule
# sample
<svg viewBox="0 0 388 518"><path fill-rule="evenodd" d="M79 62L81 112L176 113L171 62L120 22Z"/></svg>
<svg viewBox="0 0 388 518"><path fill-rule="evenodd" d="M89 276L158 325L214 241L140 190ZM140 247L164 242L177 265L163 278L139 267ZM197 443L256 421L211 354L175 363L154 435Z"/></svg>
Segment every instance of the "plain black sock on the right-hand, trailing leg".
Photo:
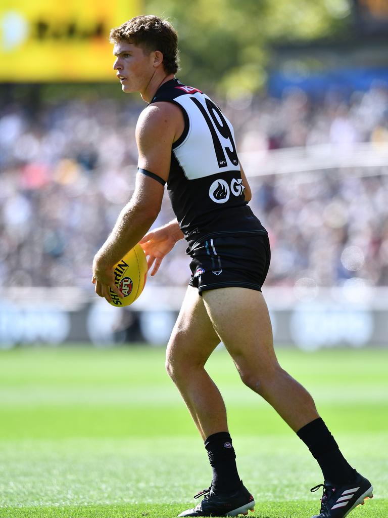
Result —
<svg viewBox="0 0 388 518"><path fill-rule="evenodd" d="M352 482L356 471L348 464L338 444L321 418L303 426L296 435L302 439L317 460L326 482Z"/></svg>

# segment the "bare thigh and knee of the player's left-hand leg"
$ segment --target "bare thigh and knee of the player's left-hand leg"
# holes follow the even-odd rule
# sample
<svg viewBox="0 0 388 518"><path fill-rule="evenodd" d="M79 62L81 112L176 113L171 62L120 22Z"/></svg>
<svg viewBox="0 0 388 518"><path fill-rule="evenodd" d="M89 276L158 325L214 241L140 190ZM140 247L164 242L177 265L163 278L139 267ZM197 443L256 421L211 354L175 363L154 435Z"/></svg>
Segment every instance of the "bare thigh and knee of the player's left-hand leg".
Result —
<svg viewBox="0 0 388 518"><path fill-rule="evenodd" d="M202 297L196 288L188 286L167 346L168 366L177 372L203 366L219 342Z"/></svg>

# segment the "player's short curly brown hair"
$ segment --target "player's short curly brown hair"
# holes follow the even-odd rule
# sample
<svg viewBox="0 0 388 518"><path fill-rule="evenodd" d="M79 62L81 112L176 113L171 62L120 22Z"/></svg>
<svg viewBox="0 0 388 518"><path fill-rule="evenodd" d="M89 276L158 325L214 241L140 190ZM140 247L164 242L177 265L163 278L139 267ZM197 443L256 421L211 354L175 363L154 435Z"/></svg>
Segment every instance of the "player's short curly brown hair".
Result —
<svg viewBox="0 0 388 518"><path fill-rule="evenodd" d="M127 41L141 47L146 52L159 50L163 54L163 67L168 74L178 70L178 36L167 20L154 15L136 16L111 29L111 43Z"/></svg>

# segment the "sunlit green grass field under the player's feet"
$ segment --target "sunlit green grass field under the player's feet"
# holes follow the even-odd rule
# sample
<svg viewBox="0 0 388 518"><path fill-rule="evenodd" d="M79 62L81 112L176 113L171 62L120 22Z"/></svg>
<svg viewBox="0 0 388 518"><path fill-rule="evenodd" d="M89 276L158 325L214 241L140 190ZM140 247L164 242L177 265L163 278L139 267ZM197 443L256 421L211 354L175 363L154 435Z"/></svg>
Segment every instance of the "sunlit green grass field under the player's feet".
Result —
<svg viewBox="0 0 388 518"><path fill-rule="evenodd" d="M341 450L375 486L356 518L388 516L388 349L279 350ZM240 475L256 518L310 518L321 473L304 444L216 351ZM160 348L0 352L0 517L168 518L211 469Z"/></svg>

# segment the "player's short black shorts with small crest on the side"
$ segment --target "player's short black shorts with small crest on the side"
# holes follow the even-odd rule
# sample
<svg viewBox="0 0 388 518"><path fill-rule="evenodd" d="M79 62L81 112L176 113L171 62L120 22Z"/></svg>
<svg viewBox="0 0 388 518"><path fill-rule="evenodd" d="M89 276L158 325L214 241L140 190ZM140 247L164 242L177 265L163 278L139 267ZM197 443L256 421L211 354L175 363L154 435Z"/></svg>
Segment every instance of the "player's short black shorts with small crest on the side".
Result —
<svg viewBox="0 0 388 518"><path fill-rule="evenodd" d="M224 287L261 291L271 261L267 234L208 237L190 251L190 286L198 292Z"/></svg>

